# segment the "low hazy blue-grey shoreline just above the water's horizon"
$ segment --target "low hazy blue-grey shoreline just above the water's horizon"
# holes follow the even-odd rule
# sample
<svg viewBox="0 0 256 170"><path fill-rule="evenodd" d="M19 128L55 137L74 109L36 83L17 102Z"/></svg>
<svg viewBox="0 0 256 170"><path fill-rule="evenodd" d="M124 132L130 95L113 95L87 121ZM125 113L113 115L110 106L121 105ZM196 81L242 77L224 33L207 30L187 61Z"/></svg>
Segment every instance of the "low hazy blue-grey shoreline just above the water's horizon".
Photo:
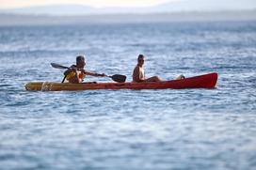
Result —
<svg viewBox="0 0 256 170"><path fill-rule="evenodd" d="M0 26L14 25L69 25L88 23L171 23L256 21L255 10L214 12L173 12L148 14L98 14L77 16L19 15L0 13Z"/></svg>

